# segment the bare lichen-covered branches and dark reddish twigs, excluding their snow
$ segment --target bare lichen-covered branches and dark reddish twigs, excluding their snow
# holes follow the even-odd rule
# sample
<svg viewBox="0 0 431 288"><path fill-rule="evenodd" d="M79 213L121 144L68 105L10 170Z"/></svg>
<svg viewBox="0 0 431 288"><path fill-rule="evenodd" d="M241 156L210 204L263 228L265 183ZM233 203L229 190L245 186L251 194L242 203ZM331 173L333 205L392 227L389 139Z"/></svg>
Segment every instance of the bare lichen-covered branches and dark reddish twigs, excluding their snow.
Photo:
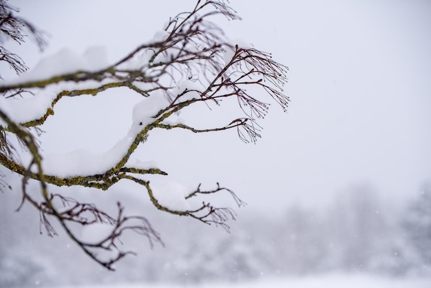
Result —
<svg viewBox="0 0 431 288"><path fill-rule="evenodd" d="M3 9L0 9L0 34L3 32L6 37L22 42L21 29L25 25L36 37L39 47L43 47L45 42L39 30L23 19L14 17L12 12L16 10L6 6L3 1L0 2L0 8ZM132 154L145 142L151 130L180 128L194 133L203 133L237 129L242 141L254 143L260 137L262 130L258 121L266 116L270 102L277 103L286 111L288 97L283 92L283 86L286 83L286 66L274 61L269 53L255 48L231 45L223 31L208 21L209 17L215 14L224 15L227 19L238 19L235 11L224 1L198 0L191 12L180 13L169 20L165 27L164 38L138 46L116 61L114 65L99 71L76 71L52 76L49 79L0 85L0 93L6 101L19 101L19 96L38 97L39 90L50 88L51 85L68 84L67 90L57 91L56 97L50 107L46 107L45 113L32 121L16 123L8 116L8 112L0 107L0 119L6 123L3 126L0 125L0 164L22 176L23 202L21 205L28 202L39 210L41 227L45 227L48 236L56 235L54 225L50 222L55 218L65 233L81 247L85 254L107 269L113 269L114 263L124 256L134 254L132 251L119 249L120 237L127 231L147 237L150 245L162 243L160 236L146 218L125 216L124 208L120 203L117 205L118 213L112 216L99 209L96 204L81 203L74 198L48 191L48 184L60 187L81 185L106 190L121 180L133 181L145 187L153 205L162 211L189 216L206 224L220 225L229 232L227 222L236 218L233 209L215 207L207 201L202 201L202 204L187 211L169 209L159 203L149 181L145 180L149 174L167 176L167 172L156 167L141 169L127 165ZM230 59L225 59L225 53L229 51L232 52ZM18 73L26 70L19 56L1 46L0 60L8 62ZM88 87L87 89L81 88L83 83ZM70 177L45 174L41 165L39 143L36 141L36 136L30 133L29 128L39 132L48 117L54 114L56 103L63 97L96 96L101 95L105 90L116 88L129 88L143 97L160 96L153 94L162 92L162 96L168 100L167 105L151 115L150 121L145 125L135 123L139 128L135 138L132 139L118 163L107 171ZM238 101L239 115L233 116L230 122L228 121L228 125L202 129L180 122L168 124L169 117L186 107L196 107L199 103L210 107L214 104L220 105L225 99L231 98ZM17 154L17 150L10 144L9 136L12 135L21 141L21 145L30 154L30 165L22 165L14 157L13 154ZM30 195L27 192L27 183L30 179L39 181L42 200L34 198L33 194ZM6 183L0 182L0 185L7 187ZM220 187L218 183L215 189L208 191L202 191L199 185L195 191L185 196L185 200L221 192L229 193L238 207L245 205L234 192ZM91 226L100 223L109 225L112 229L108 236L94 243L80 239L71 228L71 225ZM114 256L104 260L99 253L103 251L111 251Z"/></svg>

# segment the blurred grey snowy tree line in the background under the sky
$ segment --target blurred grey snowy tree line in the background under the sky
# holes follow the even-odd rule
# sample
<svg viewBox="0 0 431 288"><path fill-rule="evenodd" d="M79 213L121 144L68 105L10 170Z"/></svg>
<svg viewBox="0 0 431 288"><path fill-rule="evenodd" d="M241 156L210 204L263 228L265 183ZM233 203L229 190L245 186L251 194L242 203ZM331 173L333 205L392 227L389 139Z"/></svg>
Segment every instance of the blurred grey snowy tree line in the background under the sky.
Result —
<svg viewBox="0 0 431 288"><path fill-rule="evenodd" d="M65 237L47 240L39 236L30 229L39 221L31 209L27 223L15 221L6 211L13 209L16 199L4 196L0 203L1 287L237 281L326 272L404 277L431 272L431 185L425 185L404 207L379 200L379 193L370 187L356 187L324 209L292 205L280 218L249 211L233 225L231 234L193 221L172 221L148 207L159 232L171 236L165 239L166 247L148 250L140 238L131 235L124 245L131 245L139 255L119 263L114 273L101 271L85 256L76 255L76 247ZM143 204L134 196L129 202L136 209Z"/></svg>

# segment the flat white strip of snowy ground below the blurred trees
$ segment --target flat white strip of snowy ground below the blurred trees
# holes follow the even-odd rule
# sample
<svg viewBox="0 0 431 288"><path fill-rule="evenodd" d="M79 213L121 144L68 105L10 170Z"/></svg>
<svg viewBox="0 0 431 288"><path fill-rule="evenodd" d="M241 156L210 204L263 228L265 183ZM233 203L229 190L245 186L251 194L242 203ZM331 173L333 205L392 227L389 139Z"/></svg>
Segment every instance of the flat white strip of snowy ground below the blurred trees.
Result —
<svg viewBox="0 0 431 288"><path fill-rule="evenodd" d="M138 288L143 284L123 284L123 285L84 285L79 287L59 287L59 288ZM260 287L293 287L293 288L430 288L431 278L383 278L364 275L327 275L309 276L304 278L273 278L253 282L235 283L211 283L198 285L167 285L167 284L145 284L147 288L260 288Z"/></svg>

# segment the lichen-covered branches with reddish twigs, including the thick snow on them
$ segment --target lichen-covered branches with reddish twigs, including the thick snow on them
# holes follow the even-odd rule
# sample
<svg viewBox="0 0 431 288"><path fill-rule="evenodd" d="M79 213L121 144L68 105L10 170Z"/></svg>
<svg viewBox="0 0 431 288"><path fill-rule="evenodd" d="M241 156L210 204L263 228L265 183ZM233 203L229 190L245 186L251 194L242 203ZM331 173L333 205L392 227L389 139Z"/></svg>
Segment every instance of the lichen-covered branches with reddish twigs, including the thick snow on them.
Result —
<svg viewBox="0 0 431 288"><path fill-rule="evenodd" d="M230 189L217 183L217 187L209 191L200 190L200 185L188 193L178 193L178 189L165 191L146 177L150 174L167 176L167 172L158 167L131 165L130 161L151 130L180 128L204 133L233 129L238 131L242 141L254 143L262 130L258 121L266 116L271 102L286 111L288 97L283 86L288 68L274 61L267 52L231 43L218 25L209 21L216 14L238 19L224 1L200 0L191 12L169 19L152 41L140 45L112 65L106 63L103 56L94 61L94 55L103 54L97 52L100 50L89 50L82 56L62 51L41 61L34 72L16 81L0 83L0 163L23 176L23 202L28 201L39 210L48 235L56 234L49 220L53 216L85 254L107 269L113 269L114 263L132 253L118 248L119 238L126 230L146 236L151 245L161 243L160 236L145 218L125 216L120 203L118 215L109 216L96 205L50 194L47 185L106 190L121 180L143 187L153 205L162 211L220 225L229 231L227 221L235 220L236 216L233 209L215 207L208 201L191 207L189 199L224 191L238 207L243 206L245 203ZM53 63L65 65L60 67ZM38 132L49 117L54 117L56 103L64 97L103 96L101 92L117 88L128 88L143 98L134 107L133 124L125 138L105 153L78 150L41 158L39 143L30 129ZM237 100L237 116L220 126L198 128L182 121L171 121L186 107L198 109L198 104L204 103L217 108L222 101L231 98ZM9 140L10 136L16 136L30 151L30 163L21 163L14 156L18 151ZM90 159L87 162L94 165L84 168L79 165L81 159ZM29 179L41 183L43 200L28 194L25 187ZM111 229L107 236L90 243L76 236L71 224L108 225ZM98 251L114 251L114 254L106 260Z"/></svg>

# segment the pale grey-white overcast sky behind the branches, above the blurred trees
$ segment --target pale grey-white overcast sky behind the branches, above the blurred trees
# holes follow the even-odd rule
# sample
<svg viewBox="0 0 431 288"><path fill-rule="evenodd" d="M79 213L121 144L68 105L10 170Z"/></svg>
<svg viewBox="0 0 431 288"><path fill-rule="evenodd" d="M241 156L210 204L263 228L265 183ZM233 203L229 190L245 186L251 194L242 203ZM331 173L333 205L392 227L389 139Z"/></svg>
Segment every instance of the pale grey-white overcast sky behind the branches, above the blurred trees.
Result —
<svg viewBox="0 0 431 288"><path fill-rule="evenodd" d="M10 3L51 34L43 54L103 45L115 61L195 1ZM235 133L154 134L140 150L143 160L187 185L220 181L248 209L277 209L293 200L319 205L363 183L404 200L431 180L430 1L231 0L231 6L242 21L216 19L228 36L289 66L288 114L273 105L256 145L241 143ZM31 44L17 54L30 67L42 56ZM127 133L139 97L119 90L96 100L64 99L56 106L45 152L76 145L107 150ZM207 114L193 117L207 121Z"/></svg>

